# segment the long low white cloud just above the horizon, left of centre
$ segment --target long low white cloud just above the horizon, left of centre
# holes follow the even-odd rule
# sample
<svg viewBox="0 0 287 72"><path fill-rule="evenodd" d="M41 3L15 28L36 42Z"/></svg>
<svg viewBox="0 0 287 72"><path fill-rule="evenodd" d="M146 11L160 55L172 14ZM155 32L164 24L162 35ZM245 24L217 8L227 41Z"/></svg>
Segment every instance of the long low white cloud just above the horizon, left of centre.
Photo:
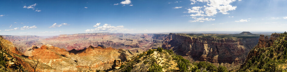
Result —
<svg viewBox="0 0 287 72"><path fill-rule="evenodd" d="M99 25L100 23L97 24ZM131 29L125 29L124 26L111 26L110 24L104 24L103 26L97 26L95 29L87 29L85 32L126 32L130 30Z"/></svg>

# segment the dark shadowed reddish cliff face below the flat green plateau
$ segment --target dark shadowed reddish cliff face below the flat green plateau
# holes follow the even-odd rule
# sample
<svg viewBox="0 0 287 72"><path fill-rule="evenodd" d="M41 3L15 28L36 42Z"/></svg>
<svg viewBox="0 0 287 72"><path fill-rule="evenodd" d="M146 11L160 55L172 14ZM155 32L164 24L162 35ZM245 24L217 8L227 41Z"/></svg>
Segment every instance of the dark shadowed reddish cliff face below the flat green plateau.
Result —
<svg viewBox="0 0 287 72"><path fill-rule="evenodd" d="M206 38L170 33L163 41L162 48L173 49L179 55L189 56L195 61L239 65L257 44L258 38Z"/></svg>

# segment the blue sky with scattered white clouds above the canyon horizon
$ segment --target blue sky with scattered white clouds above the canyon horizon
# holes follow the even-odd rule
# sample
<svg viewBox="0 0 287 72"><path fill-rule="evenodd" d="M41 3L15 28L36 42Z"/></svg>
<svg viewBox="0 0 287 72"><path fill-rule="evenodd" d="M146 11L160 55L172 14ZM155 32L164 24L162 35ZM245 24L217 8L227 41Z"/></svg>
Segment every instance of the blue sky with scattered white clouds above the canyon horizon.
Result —
<svg viewBox="0 0 287 72"><path fill-rule="evenodd" d="M287 0L1 0L0 35L287 31Z"/></svg>

